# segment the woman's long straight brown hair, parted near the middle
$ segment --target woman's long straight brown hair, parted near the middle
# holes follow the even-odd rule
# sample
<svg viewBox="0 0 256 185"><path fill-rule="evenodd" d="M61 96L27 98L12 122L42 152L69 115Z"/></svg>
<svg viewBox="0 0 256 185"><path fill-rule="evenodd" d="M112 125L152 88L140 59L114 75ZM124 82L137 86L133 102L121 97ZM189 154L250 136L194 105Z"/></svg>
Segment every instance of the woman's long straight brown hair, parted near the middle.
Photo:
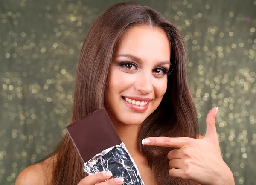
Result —
<svg viewBox="0 0 256 185"><path fill-rule="evenodd" d="M160 27L166 32L171 46L172 72L168 76L167 90L159 107L140 126L137 146L147 157L157 185L194 185L195 182L169 176L167 153L173 148L149 147L140 142L149 136L196 138L198 133L195 104L188 85L188 56L183 36L174 24L156 10L134 2L118 3L95 20L81 49L70 123L105 107L108 70L115 46L128 27L141 24ZM83 162L68 134L65 134L50 156L53 155L56 156L53 185L77 185L86 176Z"/></svg>

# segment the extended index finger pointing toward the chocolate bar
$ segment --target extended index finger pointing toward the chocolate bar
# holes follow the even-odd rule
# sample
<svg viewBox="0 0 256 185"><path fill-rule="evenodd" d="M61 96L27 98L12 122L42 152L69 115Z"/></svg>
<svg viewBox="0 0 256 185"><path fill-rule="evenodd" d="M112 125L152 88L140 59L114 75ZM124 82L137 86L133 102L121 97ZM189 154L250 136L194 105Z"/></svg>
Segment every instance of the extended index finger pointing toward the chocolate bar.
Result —
<svg viewBox="0 0 256 185"><path fill-rule="evenodd" d="M142 140L143 145L182 148L186 145L186 137L148 137Z"/></svg>

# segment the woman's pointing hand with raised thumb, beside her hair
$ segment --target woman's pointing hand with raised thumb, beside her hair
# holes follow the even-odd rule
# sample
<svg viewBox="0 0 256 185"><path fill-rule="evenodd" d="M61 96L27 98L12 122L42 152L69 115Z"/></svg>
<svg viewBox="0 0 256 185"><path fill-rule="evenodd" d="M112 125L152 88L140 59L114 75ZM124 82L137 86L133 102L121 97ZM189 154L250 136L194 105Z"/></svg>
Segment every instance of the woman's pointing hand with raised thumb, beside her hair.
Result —
<svg viewBox="0 0 256 185"><path fill-rule="evenodd" d="M218 109L207 114L203 139L189 137L149 137L144 145L176 148L168 153L169 175L189 179L202 185L235 185L230 168L223 161L215 126Z"/></svg>

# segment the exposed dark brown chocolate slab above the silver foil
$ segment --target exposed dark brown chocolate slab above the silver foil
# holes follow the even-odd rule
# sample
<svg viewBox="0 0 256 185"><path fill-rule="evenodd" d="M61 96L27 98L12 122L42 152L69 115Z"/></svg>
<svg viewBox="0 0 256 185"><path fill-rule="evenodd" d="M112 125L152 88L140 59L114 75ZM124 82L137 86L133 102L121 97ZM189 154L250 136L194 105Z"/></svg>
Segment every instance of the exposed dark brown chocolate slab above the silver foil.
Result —
<svg viewBox="0 0 256 185"><path fill-rule="evenodd" d="M122 142L105 108L88 114L66 128L83 162Z"/></svg>

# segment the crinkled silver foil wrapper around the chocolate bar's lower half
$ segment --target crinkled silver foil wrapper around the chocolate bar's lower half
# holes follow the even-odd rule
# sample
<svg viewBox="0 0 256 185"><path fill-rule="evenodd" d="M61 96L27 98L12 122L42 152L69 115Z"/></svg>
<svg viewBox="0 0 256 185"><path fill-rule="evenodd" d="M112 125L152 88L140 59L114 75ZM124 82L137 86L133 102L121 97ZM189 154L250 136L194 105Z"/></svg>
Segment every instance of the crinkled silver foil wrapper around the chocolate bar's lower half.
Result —
<svg viewBox="0 0 256 185"><path fill-rule="evenodd" d="M111 171L111 178L123 177L124 185L144 185L139 170L123 142L103 150L84 163L84 172L88 175L102 171Z"/></svg>

